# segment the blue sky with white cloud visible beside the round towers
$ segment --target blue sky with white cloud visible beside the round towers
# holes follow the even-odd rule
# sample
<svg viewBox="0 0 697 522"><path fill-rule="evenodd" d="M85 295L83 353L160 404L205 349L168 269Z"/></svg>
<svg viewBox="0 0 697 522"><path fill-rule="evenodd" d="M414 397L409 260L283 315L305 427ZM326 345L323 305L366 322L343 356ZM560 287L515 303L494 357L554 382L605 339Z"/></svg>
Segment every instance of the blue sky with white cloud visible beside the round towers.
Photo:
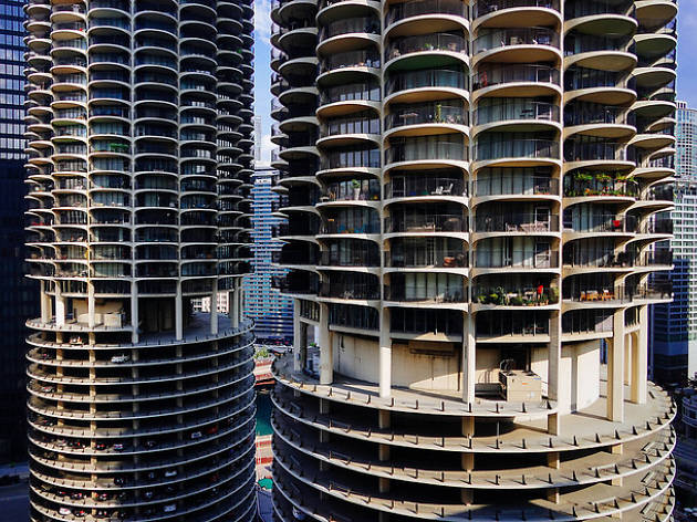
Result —
<svg viewBox="0 0 697 522"><path fill-rule="evenodd" d="M262 160L269 161L271 143L271 0L254 0L254 114L261 116ZM697 108L697 0L679 0L677 96ZM691 51L691 52L690 52Z"/></svg>

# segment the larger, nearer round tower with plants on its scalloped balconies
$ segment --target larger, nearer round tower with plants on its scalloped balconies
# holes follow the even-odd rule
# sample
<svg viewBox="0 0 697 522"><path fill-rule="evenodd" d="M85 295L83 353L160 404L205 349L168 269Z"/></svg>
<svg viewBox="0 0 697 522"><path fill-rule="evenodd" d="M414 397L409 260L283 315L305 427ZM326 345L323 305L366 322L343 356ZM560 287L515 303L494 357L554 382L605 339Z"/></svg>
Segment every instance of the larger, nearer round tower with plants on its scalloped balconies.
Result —
<svg viewBox="0 0 697 522"><path fill-rule="evenodd" d="M274 4L279 520L670 520L676 14Z"/></svg>

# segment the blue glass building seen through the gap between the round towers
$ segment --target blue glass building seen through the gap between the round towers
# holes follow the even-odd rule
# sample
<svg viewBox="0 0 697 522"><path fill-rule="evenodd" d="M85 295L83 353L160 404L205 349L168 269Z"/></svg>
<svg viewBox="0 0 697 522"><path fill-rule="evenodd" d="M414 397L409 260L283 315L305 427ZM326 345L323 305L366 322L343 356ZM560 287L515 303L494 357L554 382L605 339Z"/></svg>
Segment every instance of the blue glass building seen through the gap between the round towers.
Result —
<svg viewBox="0 0 697 522"><path fill-rule="evenodd" d="M254 321L254 334L260 343L290 344L293 341L293 301L273 288L273 281L287 270L273 264L282 242L274 230L285 222L277 212L282 196L273 191L278 171L259 167L252 178L253 273L245 276L245 313Z"/></svg>

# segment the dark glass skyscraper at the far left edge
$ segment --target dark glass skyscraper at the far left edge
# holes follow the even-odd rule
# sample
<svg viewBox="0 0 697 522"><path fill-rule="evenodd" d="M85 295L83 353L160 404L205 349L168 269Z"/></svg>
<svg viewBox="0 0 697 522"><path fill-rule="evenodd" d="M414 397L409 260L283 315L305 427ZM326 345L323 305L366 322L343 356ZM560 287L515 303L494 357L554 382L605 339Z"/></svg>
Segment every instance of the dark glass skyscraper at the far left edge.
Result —
<svg viewBox="0 0 697 522"><path fill-rule="evenodd" d="M24 321L39 302L24 274L24 11L0 1L0 461L24 460Z"/></svg>

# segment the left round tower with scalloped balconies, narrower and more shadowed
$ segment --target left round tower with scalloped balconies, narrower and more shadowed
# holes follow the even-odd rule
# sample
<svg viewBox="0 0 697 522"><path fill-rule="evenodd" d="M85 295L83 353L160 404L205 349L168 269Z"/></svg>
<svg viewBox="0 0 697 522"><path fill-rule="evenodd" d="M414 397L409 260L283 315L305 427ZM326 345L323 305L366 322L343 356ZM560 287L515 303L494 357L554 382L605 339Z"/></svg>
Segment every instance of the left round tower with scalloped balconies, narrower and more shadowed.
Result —
<svg viewBox="0 0 697 522"><path fill-rule="evenodd" d="M27 15L31 518L248 522L252 2Z"/></svg>

